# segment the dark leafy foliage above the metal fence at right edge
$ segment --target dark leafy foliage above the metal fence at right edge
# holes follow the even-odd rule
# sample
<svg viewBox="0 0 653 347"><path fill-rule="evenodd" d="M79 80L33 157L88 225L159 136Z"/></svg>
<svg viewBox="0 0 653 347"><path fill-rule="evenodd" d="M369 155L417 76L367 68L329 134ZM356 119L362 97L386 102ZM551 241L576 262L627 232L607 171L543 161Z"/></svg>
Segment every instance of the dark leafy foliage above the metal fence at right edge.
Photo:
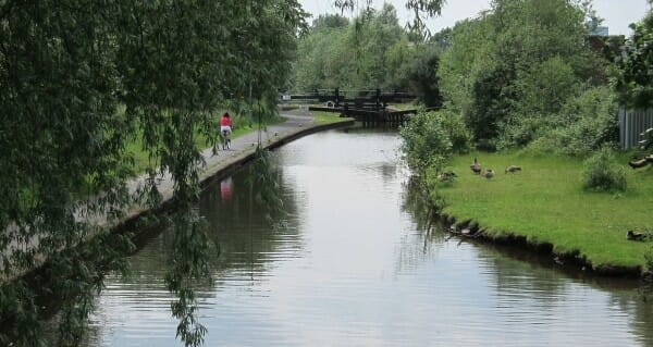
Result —
<svg viewBox="0 0 653 347"><path fill-rule="evenodd" d="M616 59L616 88L620 102L630 108L645 109L653 107L653 12L649 10L646 16L632 24L631 28L632 36Z"/></svg>

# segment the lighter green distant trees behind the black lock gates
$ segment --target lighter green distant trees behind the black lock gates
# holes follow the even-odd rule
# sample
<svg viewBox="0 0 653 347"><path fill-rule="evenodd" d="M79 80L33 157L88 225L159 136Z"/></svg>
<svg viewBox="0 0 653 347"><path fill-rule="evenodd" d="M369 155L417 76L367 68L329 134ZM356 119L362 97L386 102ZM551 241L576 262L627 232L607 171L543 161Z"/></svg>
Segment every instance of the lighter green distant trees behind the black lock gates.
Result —
<svg viewBox="0 0 653 347"><path fill-rule="evenodd" d="M368 8L350 23L322 15L299 41L294 88L406 90L427 106L440 106L435 73L445 37L415 45L390 4Z"/></svg>

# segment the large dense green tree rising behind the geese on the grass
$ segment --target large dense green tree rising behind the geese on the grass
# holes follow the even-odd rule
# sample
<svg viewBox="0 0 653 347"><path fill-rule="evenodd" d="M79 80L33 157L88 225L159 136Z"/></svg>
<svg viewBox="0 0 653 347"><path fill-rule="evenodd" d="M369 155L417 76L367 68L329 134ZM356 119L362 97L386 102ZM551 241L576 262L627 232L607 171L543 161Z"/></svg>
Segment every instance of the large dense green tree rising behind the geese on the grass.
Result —
<svg viewBox="0 0 653 347"><path fill-rule="evenodd" d="M586 40L590 10L567 0L502 0L453 28L440 90L477 146L529 144L559 126L562 106L591 87L588 82L602 80L601 61Z"/></svg>

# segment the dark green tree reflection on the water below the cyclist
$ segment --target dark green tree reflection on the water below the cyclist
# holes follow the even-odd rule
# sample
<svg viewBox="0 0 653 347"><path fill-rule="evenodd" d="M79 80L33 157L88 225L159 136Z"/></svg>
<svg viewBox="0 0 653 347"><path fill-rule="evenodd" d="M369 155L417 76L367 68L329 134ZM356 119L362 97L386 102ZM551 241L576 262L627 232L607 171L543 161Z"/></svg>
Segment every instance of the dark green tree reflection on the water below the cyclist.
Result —
<svg viewBox="0 0 653 347"><path fill-rule="evenodd" d="M297 206L283 184L283 171L273 164L274 153L252 162L233 176L214 182L201 195L199 209L209 224L210 238L222 250L213 271L261 273L279 247L301 249Z"/></svg>

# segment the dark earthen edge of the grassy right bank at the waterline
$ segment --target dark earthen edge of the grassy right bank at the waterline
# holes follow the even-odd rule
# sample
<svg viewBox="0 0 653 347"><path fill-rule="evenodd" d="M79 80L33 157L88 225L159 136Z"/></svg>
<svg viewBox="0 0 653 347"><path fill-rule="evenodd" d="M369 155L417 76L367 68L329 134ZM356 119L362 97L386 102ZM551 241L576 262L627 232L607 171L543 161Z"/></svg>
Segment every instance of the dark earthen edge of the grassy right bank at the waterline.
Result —
<svg viewBox="0 0 653 347"><path fill-rule="evenodd" d="M479 225L479 223L473 220L458 222L456 216L446 213L439 213L436 218L444 226L445 232L461 238L503 245L519 250L526 249L540 256L551 257L559 267L566 267L583 273L592 273L599 276L653 281L653 271L644 271L641 265L624 267L601 264L594 267L579 250L560 253L554 251L554 244L552 243L537 243L515 232L495 235L490 233L488 227Z"/></svg>

